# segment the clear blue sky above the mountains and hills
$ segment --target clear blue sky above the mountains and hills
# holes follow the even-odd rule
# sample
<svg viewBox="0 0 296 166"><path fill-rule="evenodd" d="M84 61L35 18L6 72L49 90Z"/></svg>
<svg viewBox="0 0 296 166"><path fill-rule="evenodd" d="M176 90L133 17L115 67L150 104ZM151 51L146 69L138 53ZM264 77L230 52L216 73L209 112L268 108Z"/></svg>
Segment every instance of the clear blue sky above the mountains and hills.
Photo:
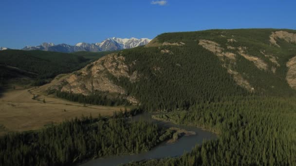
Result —
<svg viewBox="0 0 296 166"><path fill-rule="evenodd" d="M234 28L296 29L296 0L0 0L0 46Z"/></svg>

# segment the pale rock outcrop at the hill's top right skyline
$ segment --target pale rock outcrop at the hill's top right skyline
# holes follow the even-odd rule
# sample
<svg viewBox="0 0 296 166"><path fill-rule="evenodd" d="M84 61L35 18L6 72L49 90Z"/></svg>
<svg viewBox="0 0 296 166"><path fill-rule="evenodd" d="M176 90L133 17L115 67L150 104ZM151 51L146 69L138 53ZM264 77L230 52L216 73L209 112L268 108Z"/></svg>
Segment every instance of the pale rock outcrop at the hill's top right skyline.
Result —
<svg viewBox="0 0 296 166"><path fill-rule="evenodd" d="M285 31L277 31L277 32L273 32L271 33L271 35L269 36L269 41L271 44L276 45L277 47L279 47L279 45L277 44L277 41L275 39L279 38L279 39L283 39L286 42L289 43L296 43L296 33L288 33Z"/></svg>

